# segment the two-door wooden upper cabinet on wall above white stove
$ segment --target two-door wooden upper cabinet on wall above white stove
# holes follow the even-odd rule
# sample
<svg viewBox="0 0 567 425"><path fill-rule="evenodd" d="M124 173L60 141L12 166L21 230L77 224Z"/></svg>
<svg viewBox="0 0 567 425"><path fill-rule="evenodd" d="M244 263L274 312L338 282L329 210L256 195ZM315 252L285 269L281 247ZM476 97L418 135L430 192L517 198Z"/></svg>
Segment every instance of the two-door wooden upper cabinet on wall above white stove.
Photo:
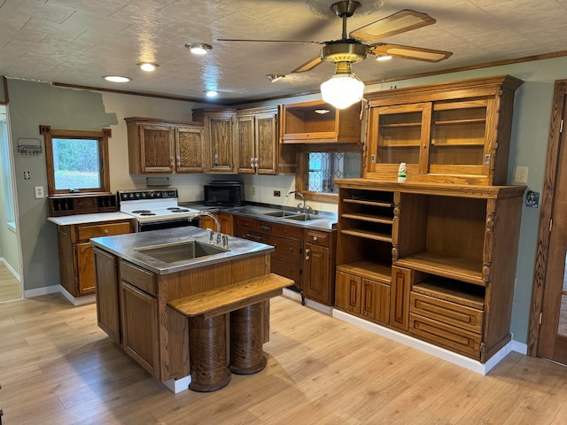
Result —
<svg viewBox="0 0 567 425"><path fill-rule="evenodd" d="M130 174L203 173L205 128L198 122L125 118Z"/></svg>

